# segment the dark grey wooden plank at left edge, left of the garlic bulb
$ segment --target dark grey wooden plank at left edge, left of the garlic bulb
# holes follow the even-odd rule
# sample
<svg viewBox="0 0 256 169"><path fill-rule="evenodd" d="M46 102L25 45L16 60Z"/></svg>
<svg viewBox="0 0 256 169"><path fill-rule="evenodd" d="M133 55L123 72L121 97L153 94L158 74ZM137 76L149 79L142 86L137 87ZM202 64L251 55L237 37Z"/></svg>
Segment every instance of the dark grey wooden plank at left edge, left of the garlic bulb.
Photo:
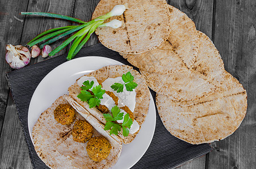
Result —
<svg viewBox="0 0 256 169"><path fill-rule="evenodd" d="M5 61L6 45L9 43L18 45L20 43L24 18L19 16L19 11L26 10L27 3L28 1L23 1L22 4L18 5L19 3L15 0L4 0L0 2L0 134L5 117L9 90L5 73L11 71L10 66Z"/></svg>

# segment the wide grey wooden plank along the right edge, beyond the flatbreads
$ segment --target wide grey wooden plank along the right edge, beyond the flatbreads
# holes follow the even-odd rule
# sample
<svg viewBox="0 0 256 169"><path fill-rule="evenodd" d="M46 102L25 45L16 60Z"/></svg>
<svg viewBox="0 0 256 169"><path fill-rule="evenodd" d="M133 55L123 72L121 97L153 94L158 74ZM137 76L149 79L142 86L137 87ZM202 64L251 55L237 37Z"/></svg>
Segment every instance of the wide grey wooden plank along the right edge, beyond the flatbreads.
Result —
<svg viewBox="0 0 256 169"><path fill-rule="evenodd" d="M212 144L209 168L255 168L256 166L256 2L216 1L214 43L223 57L225 69L236 77L248 93L244 121L227 139Z"/></svg>

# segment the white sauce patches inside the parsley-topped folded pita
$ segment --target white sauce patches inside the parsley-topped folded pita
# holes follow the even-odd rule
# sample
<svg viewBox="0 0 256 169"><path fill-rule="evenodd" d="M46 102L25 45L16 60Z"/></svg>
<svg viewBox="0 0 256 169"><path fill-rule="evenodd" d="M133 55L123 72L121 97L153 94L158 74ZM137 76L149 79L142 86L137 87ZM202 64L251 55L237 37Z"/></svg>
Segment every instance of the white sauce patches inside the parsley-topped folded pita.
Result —
<svg viewBox="0 0 256 169"><path fill-rule="evenodd" d="M99 85L98 81L96 78L94 77L88 77L88 76L83 76L81 77L78 81L77 84L81 87L83 86L83 83L85 81L94 81L93 87L96 87ZM136 99L136 92L135 90L133 91L127 91L125 86L124 86L124 91L117 93L116 91L112 90L112 88L110 86L112 86L112 84L114 83L123 83L122 77L117 77L117 78L107 78L103 83L102 83L102 88L106 91L111 91L113 92L116 96L118 96L119 100L118 100L118 106L119 107L123 107L124 105L128 106L128 108L133 112L134 108L135 108L135 99ZM92 87L92 88L93 88ZM115 106L115 101L112 99L112 97L110 97L107 94L103 94L103 99L101 99L101 105L106 105L107 108L109 108L109 110L111 110L114 106ZM125 114L127 114L124 110L120 109L121 112ZM117 121L118 123L123 123L124 119ZM136 131L138 131L140 129L140 125L138 124L138 122L136 122L136 120L134 119L131 128L127 128L129 130L130 134L134 134Z"/></svg>

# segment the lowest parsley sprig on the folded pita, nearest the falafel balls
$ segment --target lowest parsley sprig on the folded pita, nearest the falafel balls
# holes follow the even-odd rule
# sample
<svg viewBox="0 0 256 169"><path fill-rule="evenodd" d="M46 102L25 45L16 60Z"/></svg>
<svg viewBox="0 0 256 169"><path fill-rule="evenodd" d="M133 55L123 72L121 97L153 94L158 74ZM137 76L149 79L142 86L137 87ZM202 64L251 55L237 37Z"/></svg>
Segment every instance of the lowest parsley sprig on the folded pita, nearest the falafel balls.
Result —
<svg viewBox="0 0 256 169"><path fill-rule="evenodd" d="M115 134L118 135L118 132L121 131L121 128L123 128L123 136L128 136L129 130L127 128L131 128L132 126L132 119L129 118L129 114L120 113L120 109L118 106L114 106L111 109L112 115L110 114L103 114L107 123L104 127L104 130L110 130L110 135ZM115 121L122 120L124 118L124 121L122 124L115 123Z"/></svg>

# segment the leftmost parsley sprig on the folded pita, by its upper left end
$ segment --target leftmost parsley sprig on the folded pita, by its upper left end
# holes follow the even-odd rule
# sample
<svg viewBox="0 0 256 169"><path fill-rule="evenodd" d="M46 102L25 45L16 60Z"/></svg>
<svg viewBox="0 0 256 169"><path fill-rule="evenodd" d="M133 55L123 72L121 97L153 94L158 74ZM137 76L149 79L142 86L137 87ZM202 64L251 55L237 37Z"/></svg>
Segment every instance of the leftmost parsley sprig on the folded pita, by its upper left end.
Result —
<svg viewBox="0 0 256 169"><path fill-rule="evenodd" d="M81 86L81 93L77 95L77 97L81 101L86 101L89 104L89 108L99 106L99 104L101 103L100 99L103 99L103 94L105 94L106 91L102 89L101 85L93 87L93 81L85 81L83 84L84 86ZM92 91L93 94L91 94L89 90Z"/></svg>

